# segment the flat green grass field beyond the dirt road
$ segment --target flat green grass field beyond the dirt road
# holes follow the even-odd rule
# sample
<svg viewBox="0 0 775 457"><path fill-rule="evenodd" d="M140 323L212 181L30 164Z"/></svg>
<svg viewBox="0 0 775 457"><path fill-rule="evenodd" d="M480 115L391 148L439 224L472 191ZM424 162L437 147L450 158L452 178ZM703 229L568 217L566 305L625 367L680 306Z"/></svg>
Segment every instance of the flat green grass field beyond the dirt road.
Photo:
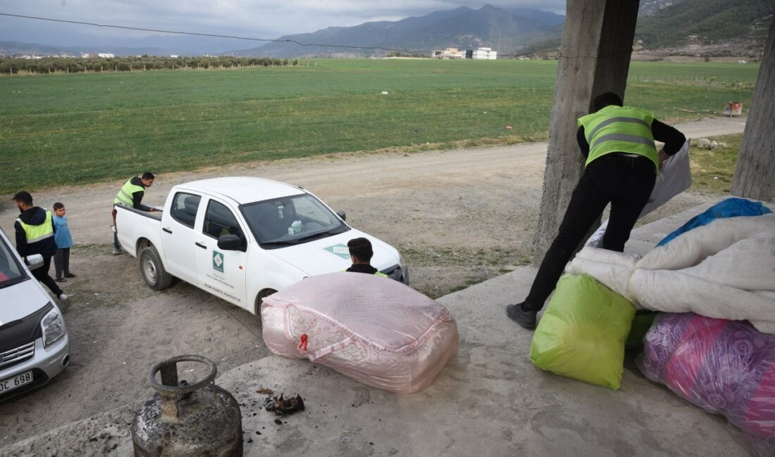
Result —
<svg viewBox="0 0 775 457"><path fill-rule="evenodd" d="M697 119L726 101L748 107L758 70L632 63L626 101L665 121ZM0 77L0 193L145 169L544 140L555 77L556 62L538 60Z"/></svg>

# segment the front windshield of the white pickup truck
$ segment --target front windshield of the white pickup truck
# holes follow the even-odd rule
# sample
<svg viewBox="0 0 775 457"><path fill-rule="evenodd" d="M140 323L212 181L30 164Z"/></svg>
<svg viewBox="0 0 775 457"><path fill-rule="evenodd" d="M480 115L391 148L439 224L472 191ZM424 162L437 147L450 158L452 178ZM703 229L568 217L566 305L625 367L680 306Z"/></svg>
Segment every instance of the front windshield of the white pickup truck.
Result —
<svg viewBox="0 0 775 457"><path fill-rule="evenodd" d="M263 247L284 247L350 230L336 214L308 193L239 207Z"/></svg>

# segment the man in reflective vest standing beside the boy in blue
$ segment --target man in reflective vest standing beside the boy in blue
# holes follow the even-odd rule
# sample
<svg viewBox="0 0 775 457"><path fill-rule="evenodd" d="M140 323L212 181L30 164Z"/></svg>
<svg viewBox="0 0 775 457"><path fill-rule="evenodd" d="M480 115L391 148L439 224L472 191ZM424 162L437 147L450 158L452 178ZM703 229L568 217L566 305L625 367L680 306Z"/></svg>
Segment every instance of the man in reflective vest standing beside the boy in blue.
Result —
<svg viewBox="0 0 775 457"><path fill-rule="evenodd" d="M40 206L33 206L33 196L22 190L13 196L16 207L19 208L19 218L13 224L16 234L16 251L25 258L31 254L43 256L43 266L32 270L33 277L51 289L59 298L62 311L67 309L69 297L65 295L57 282L49 275L51 257L57 254L57 242L53 239L55 227L51 212Z"/></svg>

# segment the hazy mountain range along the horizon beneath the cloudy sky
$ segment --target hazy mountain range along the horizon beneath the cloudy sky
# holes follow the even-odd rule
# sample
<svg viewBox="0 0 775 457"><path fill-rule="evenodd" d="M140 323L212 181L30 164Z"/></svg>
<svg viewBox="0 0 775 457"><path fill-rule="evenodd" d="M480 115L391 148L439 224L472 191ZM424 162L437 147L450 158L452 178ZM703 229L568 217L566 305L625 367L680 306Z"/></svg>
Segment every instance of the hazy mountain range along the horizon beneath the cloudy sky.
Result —
<svg viewBox="0 0 775 457"><path fill-rule="evenodd" d="M775 12L772 0L642 0L636 28L636 49L738 43L738 52L761 52ZM329 27L316 32L281 36L250 49L235 40L197 36L147 36L91 46L60 47L0 42L0 55L113 53L134 55L235 56L384 56L456 47L491 47L499 57L557 49L563 15L539 9L480 9L460 7L399 21L365 22L352 27ZM328 46L325 46L328 45ZM358 46L358 47L354 47Z"/></svg>

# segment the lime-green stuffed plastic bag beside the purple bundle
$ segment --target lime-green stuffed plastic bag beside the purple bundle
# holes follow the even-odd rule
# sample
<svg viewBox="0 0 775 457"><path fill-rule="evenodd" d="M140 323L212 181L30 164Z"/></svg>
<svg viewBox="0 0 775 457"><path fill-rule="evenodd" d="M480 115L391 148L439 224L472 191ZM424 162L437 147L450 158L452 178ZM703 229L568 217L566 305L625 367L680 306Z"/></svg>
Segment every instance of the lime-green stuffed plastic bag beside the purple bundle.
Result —
<svg viewBox="0 0 775 457"><path fill-rule="evenodd" d="M618 389L636 309L589 276L563 275L530 343L536 367Z"/></svg>

